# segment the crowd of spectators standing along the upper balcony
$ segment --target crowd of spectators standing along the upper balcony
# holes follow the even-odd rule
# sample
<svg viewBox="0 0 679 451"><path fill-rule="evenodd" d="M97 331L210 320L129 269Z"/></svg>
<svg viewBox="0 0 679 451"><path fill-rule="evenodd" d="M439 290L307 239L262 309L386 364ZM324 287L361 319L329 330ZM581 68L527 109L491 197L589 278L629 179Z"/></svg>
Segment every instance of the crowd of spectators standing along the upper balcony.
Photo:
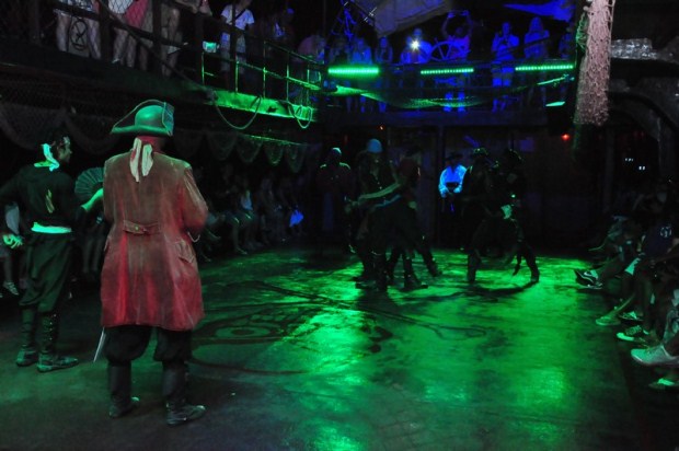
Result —
<svg viewBox="0 0 679 451"><path fill-rule="evenodd" d="M385 111L390 93L404 88L415 89L427 99L436 97L445 111L464 112L467 106L479 103L472 99L476 94L469 94L470 90L488 86L491 94L484 94L484 102L492 102L495 111L516 105L543 106L550 100L548 88L540 84L545 81L545 72L517 77L514 66L549 58L573 60L575 49L573 23L550 21L548 27L540 16L520 23L517 16L510 16L499 24L490 18L472 19L470 11L454 10L442 20L433 19L388 36L376 36L375 30L367 26L340 33L333 30L323 36L319 30L298 34L296 25L300 18L288 2L234 0L225 4L216 0L168 0L154 5L150 0L60 0L49 11L55 18L54 42L62 51L107 58L113 63L141 70L153 69L165 77L180 77L181 72L199 77L206 83L269 97L302 95L298 85L288 85L286 90L285 79L289 76L320 83L322 70L312 62L379 65L382 71L377 79L330 81L377 95L371 95L373 101L362 95L335 101L337 106L352 112ZM151 36L154 11L160 12L160 39ZM199 22L203 48L196 47L194 36ZM439 33L431 32L435 23ZM104 30L111 33L110 39L102 39ZM103 48L102 44L107 42L112 43L111 48ZM196 58L196 51L205 55ZM287 51L298 55L289 57ZM200 68L195 67L196 61L202 61ZM232 70L234 62L238 71ZM423 78L414 66L425 63L473 65L476 71L473 76ZM266 67L266 72L261 67ZM560 84L561 100L565 99L566 89L567 83ZM308 93L303 95L309 99Z"/></svg>

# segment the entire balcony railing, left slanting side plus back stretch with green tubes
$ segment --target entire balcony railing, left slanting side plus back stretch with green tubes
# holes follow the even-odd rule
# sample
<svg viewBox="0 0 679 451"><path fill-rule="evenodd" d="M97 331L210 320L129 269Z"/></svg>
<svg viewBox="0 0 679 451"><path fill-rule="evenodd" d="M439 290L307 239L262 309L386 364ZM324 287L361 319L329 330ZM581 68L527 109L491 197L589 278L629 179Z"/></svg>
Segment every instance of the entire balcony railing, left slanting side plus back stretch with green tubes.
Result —
<svg viewBox="0 0 679 451"><path fill-rule="evenodd" d="M0 37L307 106L320 102L338 106L333 96L361 96L375 101L372 111L375 105L380 111L516 109L531 107L531 102L543 106L564 101L573 80L573 61L560 59L515 60L503 66L437 61L326 67L252 34L244 35L246 50L241 55L235 45L220 48L221 34L234 30L212 16L217 11L209 14L189 8L191 1L4 0L0 2ZM123 12L119 2L130 4ZM511 82L494 82L494 74L508 68L513 69Z"/></svg>

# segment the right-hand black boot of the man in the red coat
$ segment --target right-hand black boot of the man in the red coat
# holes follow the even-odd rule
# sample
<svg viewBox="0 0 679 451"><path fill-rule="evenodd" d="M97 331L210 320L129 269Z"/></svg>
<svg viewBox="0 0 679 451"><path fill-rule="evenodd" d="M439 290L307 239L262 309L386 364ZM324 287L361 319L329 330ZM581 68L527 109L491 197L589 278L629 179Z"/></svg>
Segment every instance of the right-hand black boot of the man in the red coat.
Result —
<svg viewBox="0 0 679 451"><path fill-rule="evenodd" d="M186 403L187 371L184 363L163 362L163 396L169 426L180 426L205 415L205 406Z"/></svg>

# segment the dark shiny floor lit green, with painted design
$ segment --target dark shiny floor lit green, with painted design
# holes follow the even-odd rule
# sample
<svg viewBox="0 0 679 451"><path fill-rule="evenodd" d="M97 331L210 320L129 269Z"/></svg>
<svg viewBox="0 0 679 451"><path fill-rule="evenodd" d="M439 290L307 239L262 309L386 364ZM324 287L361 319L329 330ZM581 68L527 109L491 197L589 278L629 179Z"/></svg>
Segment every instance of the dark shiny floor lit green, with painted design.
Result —
<svg viewBox="0 0 679 451"><path fill-rule="evenodd" d="M93 289L76 288L61 347L81 359L41 374L13 363L15 300L0 311L0 450L674 450L676 392L630 359L611 300L582 289L577 258L541 255L541 280L438 250L442 277L388 296L354 287L355 256L303 247L202 267L206 320L195 333L189 401L207 415L163 421L160 365L134 366L141 407L107 417Z"/></svg>

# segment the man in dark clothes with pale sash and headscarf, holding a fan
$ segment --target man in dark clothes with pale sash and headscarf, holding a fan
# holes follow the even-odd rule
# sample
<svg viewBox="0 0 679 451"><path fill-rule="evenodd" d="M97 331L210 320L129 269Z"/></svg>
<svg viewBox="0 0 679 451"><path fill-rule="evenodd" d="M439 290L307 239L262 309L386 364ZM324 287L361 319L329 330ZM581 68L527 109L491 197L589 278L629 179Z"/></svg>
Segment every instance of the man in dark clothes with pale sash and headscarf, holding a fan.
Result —
<svg viewBox="0 0 679 451"><path fill-rule="evenodd" d="M0 188L0 206L20 203L33 224L25 243L28 288L19 302L22 344L16 365L37 363L38 371L47 372L78 365L78 359L57 352L59 319L70 292L72 228L101 201L102 192L100 189L88 203L79 205L73 180L61 171L73 153L66 134L56 131L51 142L42 144L42 149L44 161L22 167ZM21 238L12 233L3 233L3 241L12 248L23 244ZM36 343L38 323L39 347Z"/></svg>

